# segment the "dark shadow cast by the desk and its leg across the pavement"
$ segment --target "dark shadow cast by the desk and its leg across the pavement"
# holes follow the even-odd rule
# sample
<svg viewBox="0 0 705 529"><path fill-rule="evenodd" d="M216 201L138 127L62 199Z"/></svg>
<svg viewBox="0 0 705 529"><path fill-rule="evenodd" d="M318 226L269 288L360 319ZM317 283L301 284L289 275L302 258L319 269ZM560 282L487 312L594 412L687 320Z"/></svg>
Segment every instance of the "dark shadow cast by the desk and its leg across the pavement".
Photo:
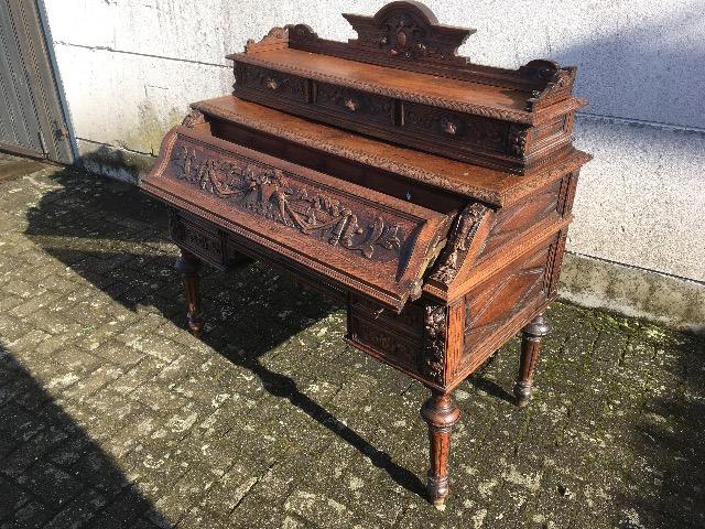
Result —
<svg viewBox="0 0 705 529"><path fill-rule="evenodd" d="M52 180L61 187L45 194L30 210L25 235L124 307L138 311L141 306L153 306L165 319L184 327L182 283L173 269L177 251L167 240L165 208L134 186L96 175L64 170ZM249 369L270 395L286 399L368 456L397 484L416 495L425 494L416 475L394 463L354 429L341 424L303 392L293 378L260 361L273 347L337 310L335 304L315 292L301 292L297 285L259 263L242 266L231 273L205 267L202 292L205 344L235 365ZM264 302L250 303L257 299ZM240 309L247 310L246 317L239 314ZM272 322L272 311L291 315ZM231 324L234 320L247 324ZM55 408L54 414L63 418L64 427L69 428L69 418L62 413L61 407L50 406ZM89 439L85 442L91 444ZM106 461L106 466L108 463ZM116 468L112 471L119 473ZM99 479L88 474L78 474L73 479L76 486L83 486L91 483L91 478ZM133 499L135 511L149 508L138 493L126 495L127 498Z"/></svg>

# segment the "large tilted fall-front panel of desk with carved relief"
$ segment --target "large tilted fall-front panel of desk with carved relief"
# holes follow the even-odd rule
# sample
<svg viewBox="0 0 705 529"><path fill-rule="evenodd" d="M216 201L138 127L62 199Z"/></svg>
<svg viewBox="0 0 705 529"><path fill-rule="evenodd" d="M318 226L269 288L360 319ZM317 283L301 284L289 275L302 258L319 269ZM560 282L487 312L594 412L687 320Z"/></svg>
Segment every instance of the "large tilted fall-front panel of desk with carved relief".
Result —
<svg viewBox="0 0 705 529"><path fill-rule="evenodd" d="M166 136L142 187L251 255L395 311L420 295L449 225L441 213L185 127Z"/></svg>

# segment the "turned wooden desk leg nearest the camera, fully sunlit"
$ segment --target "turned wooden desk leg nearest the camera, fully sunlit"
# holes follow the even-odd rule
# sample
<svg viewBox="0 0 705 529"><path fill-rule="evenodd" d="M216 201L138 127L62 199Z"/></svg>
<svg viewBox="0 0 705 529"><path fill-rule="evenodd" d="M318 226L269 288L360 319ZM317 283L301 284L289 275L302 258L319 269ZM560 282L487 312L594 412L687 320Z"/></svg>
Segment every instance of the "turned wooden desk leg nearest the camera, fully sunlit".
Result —
<svg viewBox="0 0 705 529"><path fill-rule="evenodd" d="M458 422L460 410L451 397L436 389L431 390L431 397L421 407L421 417L429 424L429 441L431 442L431 468L426 490L429 499L437 509L445 508L448 495L448 450L451 431Z"/></svg>

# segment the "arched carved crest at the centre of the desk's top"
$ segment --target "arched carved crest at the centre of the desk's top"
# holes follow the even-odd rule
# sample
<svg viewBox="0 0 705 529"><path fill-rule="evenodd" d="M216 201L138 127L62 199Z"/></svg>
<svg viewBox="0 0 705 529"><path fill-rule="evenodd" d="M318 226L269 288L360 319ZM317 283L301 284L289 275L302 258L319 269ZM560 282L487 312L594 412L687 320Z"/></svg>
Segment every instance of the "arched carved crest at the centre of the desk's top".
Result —
<svg viewBox="0 0 705 529"><path fill-rule="evenodd" d="M400 60L427 60L451 64L465 64L456 55L458 46L475 32L471 29L438 24L435 15L420 2L391 2L375 17L344 14L357 31L350 45L364 47Z"/></svg>

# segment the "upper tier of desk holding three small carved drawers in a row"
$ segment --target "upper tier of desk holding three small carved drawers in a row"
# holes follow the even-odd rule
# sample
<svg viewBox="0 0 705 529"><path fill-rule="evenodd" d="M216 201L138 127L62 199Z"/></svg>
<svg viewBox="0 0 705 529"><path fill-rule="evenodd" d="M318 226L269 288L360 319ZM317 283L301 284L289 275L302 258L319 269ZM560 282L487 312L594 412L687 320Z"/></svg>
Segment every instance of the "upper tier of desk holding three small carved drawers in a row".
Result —
<svg viewBox="0 0 705 529"><path fill-rule="evenodd" d="M383 141L519 174L570 150L574 111L532 127L362 91L275 68L238 57L234 95Z"/></svg>

